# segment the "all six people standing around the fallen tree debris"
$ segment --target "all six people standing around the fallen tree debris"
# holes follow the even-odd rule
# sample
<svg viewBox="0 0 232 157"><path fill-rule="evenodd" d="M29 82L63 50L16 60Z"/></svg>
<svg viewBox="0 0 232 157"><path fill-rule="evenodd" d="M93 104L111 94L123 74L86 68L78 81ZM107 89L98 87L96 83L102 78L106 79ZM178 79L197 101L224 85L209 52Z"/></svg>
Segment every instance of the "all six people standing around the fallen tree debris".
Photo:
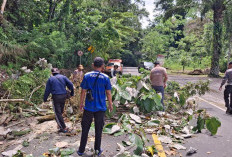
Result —
<svg viewBox="0 0 232 157"><path fill-rule="evenodd" d="M168 80L166 69L161 67L161 64L156 61L154 68L150 73L150 80L152 88L158 93L161 93L161 103L164 108L164 89ZM63 112L65 101L67 99L66 87L70 90L70 96L73 97L74 93L80 93L80 97L74 97L73 101L79 103L79 110L83 111L83 117L81 121L82 134L80 147L77 151L79 156L82 156L87 144L88 133L91 123L94 119L95 123L95 144L94 149L98 156L101 155L103 150L101 149L101 136L104 126L104 117L107 108L112 111L112 96L111 96L111 83L110 78L102 73L104 71L104 60L100 57L96 57L93 62L93 71L84 75L83 66L79 65L71 76L72 82L64 75L60 74L57 68L51 70L52 76L48 79L46 89L44 93L44 102L47 101L48 96L52 94L53 109L55 112L56 122L59 127L59 132L67 133L69 128L66 127ZM118 66L114 66L111 71L111 76L116 76ZM223 81L219 90L222 90L223 85L226 83L224 91L224 99L227 107L226 113L232 113L232 62L228 65L228 70L225 73ZM79 88L81 87L81 89ZM106 97L108 106L106 105ZM229 100L230 97L230 100ZM85 104L85 105L84 105Z"/></svg>

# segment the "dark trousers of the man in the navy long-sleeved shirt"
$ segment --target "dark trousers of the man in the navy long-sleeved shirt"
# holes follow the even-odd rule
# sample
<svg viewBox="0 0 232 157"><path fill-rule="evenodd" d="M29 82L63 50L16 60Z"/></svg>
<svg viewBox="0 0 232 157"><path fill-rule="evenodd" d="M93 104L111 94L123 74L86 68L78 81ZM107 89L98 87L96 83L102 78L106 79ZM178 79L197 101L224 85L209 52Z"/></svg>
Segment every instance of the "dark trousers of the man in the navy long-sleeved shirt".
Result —
<svg viewBox="0 0 232 157"><path fill-rule="evenodd" d="M61 130L65 129L66 125L64 123L62 114L64 112L66 94L52 95L52 99L53 99L53 110L56 116L56 122Z"/></svg>

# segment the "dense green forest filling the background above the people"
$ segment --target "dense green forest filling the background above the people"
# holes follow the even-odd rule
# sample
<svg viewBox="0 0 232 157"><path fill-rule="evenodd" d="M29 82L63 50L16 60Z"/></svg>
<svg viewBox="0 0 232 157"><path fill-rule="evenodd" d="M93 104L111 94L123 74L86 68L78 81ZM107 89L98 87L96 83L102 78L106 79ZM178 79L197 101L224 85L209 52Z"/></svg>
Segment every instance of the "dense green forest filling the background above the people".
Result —
<svg viewBox="0 0 232 157"><path fill-rule="evenodd" d="M166 58L171 69L224 72L232 42L231 0L154 0L155 17L142 0L1 0L0 62L14 69L39 58L75 68L92 58L121 58L125 66ZM6 5L5 5L6 4ZM92 50L90 50L90 47Z"/></svg>

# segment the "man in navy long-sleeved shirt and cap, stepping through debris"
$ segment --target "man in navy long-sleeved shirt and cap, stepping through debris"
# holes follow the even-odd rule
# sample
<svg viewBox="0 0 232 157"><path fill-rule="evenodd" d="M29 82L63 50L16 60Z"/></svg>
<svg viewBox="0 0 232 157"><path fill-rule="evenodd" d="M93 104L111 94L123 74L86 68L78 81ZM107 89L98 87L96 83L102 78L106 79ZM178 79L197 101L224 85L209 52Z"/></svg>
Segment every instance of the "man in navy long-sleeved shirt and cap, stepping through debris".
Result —
<svg viewBox="0 0 232 157"><path fill-rule="evenodd" d="M59 69L52 68L52 76L48 79L44 93L44 102L47 101L50 93L53 99L53 109L55 112L56 122L59 126L59 132L66 133L68 129L64 123L63 112L67 96L66 86L71 91L70 95L74 95L72 82L64 75L60 74Z"/></svg>

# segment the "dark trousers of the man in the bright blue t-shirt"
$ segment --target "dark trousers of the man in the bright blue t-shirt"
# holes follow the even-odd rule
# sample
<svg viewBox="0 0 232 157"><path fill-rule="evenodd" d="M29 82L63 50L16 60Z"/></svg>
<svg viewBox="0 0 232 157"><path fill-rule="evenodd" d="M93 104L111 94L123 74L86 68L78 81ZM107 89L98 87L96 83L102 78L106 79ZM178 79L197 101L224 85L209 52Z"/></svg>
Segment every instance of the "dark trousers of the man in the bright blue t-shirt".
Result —
<svg viewBox="0 0 232 157"><path fill-rule="evenodd" d="M102 136L102 129L104 126L104 118L105 118L105 112L104 111L98 111L98 112L90 112L84 110L81 127L82 127L82 133L81 133L81 143L79 147L79 152L83 153L85 151L85 147L87 144L89 129L91 126L91 123L94 118L94 124L95 124L95 144L94 149L100 151L101 148L101 136Z"/></svg>

